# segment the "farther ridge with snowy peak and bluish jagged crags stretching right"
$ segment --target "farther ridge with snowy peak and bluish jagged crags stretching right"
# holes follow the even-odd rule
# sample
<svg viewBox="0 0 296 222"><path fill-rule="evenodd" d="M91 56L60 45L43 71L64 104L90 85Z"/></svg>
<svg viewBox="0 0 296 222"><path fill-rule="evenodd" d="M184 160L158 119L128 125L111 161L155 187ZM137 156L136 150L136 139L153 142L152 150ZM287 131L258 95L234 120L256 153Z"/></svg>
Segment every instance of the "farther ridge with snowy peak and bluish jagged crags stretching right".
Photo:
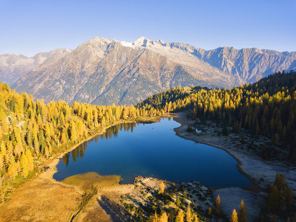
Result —
<svg viewBox="0 0 296 222"><path fill-rule="evenodd" d="M270 73L296 68L296 52L278 52L268 49L218 47L212 50L189 44L164 43L141 37L132 43L121 42L133 48L149 48L170 60L190 67L217 68L242 83L254 83Z"/></svg>

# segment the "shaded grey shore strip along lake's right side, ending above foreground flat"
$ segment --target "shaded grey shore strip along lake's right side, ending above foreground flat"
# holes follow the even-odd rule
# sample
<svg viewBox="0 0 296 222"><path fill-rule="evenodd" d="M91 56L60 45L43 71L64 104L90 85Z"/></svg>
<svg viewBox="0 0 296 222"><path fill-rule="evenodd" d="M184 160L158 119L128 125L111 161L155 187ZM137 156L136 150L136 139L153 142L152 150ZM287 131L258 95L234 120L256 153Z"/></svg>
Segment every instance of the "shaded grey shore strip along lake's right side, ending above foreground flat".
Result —
<svg viewBox="0 0 296 222"><path fill-rule="evenodd" d="M174 115L174 119L181 124L180 127L174 129L178 136L211 145L227 152L238 162L237 167L240 173L249 178L258 187L258 191L268 188L274 182L276 173L280 173L285 174L288 185L296 193L296 166L278 160L261 159L253 150L242 148L241 144L236 143L235 133L230 133L228 136L217 136L211 133L201 135L188 133L184 127L192 124L193 120L185 115L182 112ZM213 128L210 127L210 132Z"/></svg>

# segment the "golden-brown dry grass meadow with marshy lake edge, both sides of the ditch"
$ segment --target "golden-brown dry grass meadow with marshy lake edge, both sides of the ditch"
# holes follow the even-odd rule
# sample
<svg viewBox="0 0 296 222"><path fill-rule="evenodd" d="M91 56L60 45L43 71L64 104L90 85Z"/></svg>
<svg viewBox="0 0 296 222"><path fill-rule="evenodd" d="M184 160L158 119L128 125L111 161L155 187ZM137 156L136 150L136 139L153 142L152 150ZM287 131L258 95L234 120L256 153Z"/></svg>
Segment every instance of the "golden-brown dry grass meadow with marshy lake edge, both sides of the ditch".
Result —
<svg viewBox="0 0 296 222"><path fill-rule="evenodd" d="M100 176L86 173L58 182L52 178L58 159L50 169L20 185L9 201L0 204L0 222L70 222L78 212L79 200L85 186L99 186L100 193L93 196L73 222L112 222L114 212L109 203L116 205L120 196L133 190L133 185L117 185L120 176ZM87 188L87 186L86 186ZM103 200L102 200L103 196Z"/></svg>

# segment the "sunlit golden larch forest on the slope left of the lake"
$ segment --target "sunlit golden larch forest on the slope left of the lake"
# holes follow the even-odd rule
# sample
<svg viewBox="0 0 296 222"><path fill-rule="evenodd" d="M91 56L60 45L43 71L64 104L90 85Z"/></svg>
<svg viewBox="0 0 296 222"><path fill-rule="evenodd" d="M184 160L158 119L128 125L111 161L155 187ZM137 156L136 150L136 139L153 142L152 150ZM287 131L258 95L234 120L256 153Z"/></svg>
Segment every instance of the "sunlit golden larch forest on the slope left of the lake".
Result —
<svg viewBox="0 0 296 222"><path fill-rule="evenodd" d="M153 116L155 110L133 106L97 106L34 100L0 83L0 187L30 172L69 146L119 121Z"/></svg>

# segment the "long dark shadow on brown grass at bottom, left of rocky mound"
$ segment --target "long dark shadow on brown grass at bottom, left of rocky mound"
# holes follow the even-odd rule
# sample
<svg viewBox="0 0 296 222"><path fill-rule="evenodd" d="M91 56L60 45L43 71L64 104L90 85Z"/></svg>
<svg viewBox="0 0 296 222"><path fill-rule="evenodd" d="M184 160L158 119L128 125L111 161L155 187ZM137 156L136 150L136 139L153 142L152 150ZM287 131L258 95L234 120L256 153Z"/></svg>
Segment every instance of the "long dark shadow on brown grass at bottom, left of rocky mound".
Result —
<svg viewBox="0 0 296 222"><path fill-rule="evenodd" d="M127 211L118 203L110 200L105 196L101 196L101 199L97 199L100 207L108 214L112 222L128 222L130 218L127 216Z"/></svg>

